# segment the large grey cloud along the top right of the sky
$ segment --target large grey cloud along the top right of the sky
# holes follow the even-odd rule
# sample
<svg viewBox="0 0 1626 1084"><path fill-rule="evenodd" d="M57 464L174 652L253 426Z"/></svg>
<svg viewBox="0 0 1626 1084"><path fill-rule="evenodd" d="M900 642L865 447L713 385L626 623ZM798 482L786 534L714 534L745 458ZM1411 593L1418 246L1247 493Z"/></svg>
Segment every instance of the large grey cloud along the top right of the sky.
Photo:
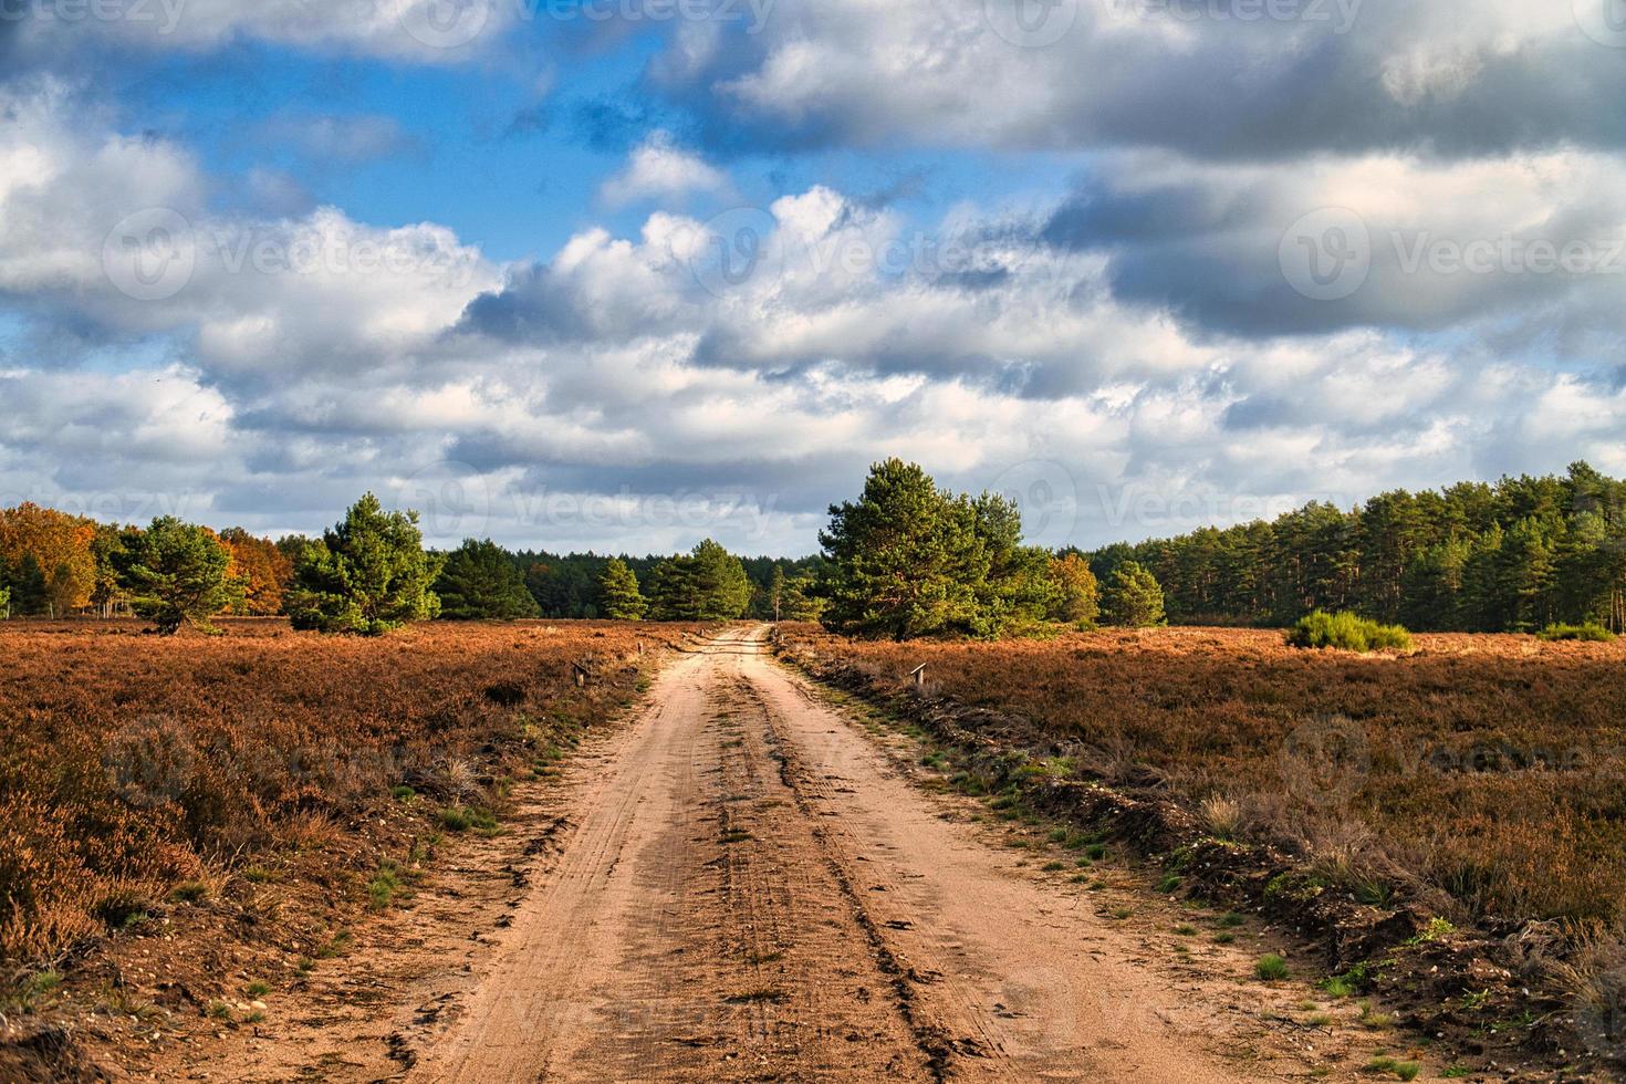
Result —
<svg viewBox="0 0 1626 1084"><path fill-rule="evenodd" d="M857 0L782 3L764 34L735 34L704 65L652 78L696 106L714 145L917 145L1005 150L1171 148L1281 159L1410 148L1441 156L1626 145L1621 50L1569 5L1367 0L1052 8L1076 21L1046 47L992 31L977 0L880 13ZM1353 7L1343 26L1340 11ZM1135 10L1141 8L1137 16ZM1169 11L1195 11L1195 18ZM1328 18L1311 18L1324 13ZM893 42L928 62L896 70Z"/></svg>

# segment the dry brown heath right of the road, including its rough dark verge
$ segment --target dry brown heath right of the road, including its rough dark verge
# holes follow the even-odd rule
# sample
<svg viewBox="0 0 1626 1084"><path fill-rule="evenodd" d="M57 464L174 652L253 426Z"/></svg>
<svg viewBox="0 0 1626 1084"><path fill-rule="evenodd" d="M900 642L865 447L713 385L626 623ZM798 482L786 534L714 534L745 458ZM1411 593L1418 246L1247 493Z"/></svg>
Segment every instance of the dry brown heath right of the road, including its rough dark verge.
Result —
<svg viewBox="0 0 1626 1084"><path fill-rule="evenodd" d="M1270 631L899 645L813 626L779 640L919 725L925 762L998 791L998 816L1073 819L1154 860L1159 892L1319 941L1325 993L1382 996L1457 1069L1626 1068L1621 642L1419 635L1354 655Z"/></svg>

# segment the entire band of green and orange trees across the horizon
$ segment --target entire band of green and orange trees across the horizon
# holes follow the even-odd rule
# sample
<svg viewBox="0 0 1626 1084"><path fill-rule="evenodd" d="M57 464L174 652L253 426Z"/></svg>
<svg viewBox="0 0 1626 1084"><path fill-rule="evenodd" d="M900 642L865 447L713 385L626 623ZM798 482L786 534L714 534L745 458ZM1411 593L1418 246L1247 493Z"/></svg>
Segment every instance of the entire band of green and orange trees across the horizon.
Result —
<svg viewBox="0 0 1626 1084"><path fill-rule="evenodd" d="M1626 483L1585 463L1060 554L1023 544L1015 504L938 489L899 460L875 466L859 502L831 509L820 556L793 561L738 557L711 540L642 557L512 553L489 540L424 553L415 520L364 504L367 530L423 580L423 600L403 603L408 618L748 616L824 619L860 635L998 637L1041 622L1088 627L1099 595L1111 624L1288 626L1324 609L1416 631L1626 631ZM151 613L158 595L207 583L216 613L376 624L372 603L356 614L333 601L351 577L335 554L359 544L345 523L335 531L272 541L164 518L135 528L0 509L0 616Z"/></svg>

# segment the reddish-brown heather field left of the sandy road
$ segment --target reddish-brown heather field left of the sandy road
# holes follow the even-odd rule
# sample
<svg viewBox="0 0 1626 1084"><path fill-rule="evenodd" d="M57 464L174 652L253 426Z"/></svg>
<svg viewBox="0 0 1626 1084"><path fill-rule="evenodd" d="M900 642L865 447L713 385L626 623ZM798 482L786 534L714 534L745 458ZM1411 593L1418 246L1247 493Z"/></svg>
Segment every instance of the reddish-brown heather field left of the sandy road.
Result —
<svg viewBox="0 0 1626 1084"><path fill-rule="evenodd" d="M176 886L229 889L294 853L301 878L341 892L356 848L327 843L376 811L398 819L393 788L413 788L426 829L449 804L501 809L507 774L636 694L639 642L686 631L223 626L172 640L137 622L0 622L0 957L59 959Z"/></svg>

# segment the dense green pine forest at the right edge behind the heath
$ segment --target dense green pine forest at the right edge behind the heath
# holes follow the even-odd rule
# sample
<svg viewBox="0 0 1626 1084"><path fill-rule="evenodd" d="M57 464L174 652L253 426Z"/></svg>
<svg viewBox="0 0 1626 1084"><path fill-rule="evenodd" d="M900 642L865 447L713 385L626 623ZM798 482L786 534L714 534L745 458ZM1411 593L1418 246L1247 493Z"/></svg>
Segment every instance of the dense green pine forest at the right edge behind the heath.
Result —
<svg viewBox="0 0 1626 1084"><path fill-rule="evenodd" d="M1348 609L1418 631L1626 631L1626 483L1585 463L1393 491L1348 510L1309 504L1085 556L1102 582L1124 562L1148 569L1182 624L1285 626Z"/></svg>

